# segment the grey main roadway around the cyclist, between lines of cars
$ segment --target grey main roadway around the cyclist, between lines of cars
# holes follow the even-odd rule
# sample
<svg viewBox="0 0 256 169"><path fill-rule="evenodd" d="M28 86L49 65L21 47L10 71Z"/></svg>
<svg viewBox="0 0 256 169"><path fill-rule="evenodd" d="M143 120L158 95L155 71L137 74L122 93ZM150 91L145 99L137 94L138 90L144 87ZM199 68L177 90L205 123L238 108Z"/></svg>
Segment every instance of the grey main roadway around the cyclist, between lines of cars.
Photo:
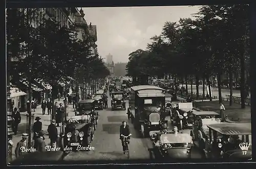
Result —
<svg viewBox="0 0 256 169"><path fill-rule="evenodd" d="M109 107L111 107L111 100L108 101ZM126 108L129 103L126 100ZM124 160L127 159L126 155L122 152L121 141L119 139L119 127L123 120L127 121L127 110L111 110L111 108L98 110L99 119L97 130L95 131L95 137L92 143L94 150L91 151L78 151L68 154L65 161L75 160ZM170 124L170 118L168 120L169 130L172 130ZM132 133L130 149L130 159L150 159L149 148L152 148L152 142L149 138L141 138L139 131L134 129L133 124L127 121ZM189 133L190 130L184 130L183 132ZM191 151L192 157L196 159L202 158L197 150Z"/></svg>

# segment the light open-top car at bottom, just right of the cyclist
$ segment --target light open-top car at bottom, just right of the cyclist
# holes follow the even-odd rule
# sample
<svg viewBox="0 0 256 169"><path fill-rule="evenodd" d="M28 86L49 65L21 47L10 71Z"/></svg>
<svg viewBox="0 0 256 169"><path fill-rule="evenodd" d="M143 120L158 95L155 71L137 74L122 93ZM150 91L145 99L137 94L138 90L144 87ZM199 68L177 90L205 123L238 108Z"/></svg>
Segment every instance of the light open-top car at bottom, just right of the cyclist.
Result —
<svg viewBox="0 0 256 169"><path fill-rule="evenodd" d="M155 138L153 136L154 133L159 133L159 132L160 131L150 132L151 140L153 143L153 149L150 150L152 151L150 152L152 153L151 158L166 159L166 160L191 158L191 145L193 144L193 141L189 134L187 133L161 134L160 138ZM157 142L160 143L159 146L157 146Z"/></svg>

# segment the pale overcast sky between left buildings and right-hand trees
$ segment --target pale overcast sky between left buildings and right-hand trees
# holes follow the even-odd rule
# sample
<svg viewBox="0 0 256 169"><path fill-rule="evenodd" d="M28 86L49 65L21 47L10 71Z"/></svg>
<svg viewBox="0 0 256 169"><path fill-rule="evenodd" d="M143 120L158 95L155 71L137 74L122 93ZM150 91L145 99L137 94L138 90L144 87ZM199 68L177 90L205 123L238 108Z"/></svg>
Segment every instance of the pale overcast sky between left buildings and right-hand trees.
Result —
<svg viewBox="0 0 256 169"><path fill-rule="evenodd" d="M78 9L80 10L80 8ZM111 53L114 63L128 62L129 54L145 49L150 38L160 35L166 21L193 18L199 6L83 8L87 23L97 25L98 52Z"/></svg>

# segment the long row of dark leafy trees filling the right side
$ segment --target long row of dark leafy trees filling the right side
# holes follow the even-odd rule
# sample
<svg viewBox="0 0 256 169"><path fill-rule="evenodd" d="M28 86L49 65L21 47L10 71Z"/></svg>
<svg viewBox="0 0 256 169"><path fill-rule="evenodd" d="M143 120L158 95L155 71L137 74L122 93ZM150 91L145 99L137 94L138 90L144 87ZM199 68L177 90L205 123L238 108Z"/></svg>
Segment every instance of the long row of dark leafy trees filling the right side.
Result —
<svg viewBox="0 0 256 169"><path fill-rule="evenodd" d="M199 80L203 82L204 95L205 85L210 85L211 77L217 76L219 99L222 101L221 76L227 74L231 105L233 74L239 72L244 108L246 77L249 80L250 73L249 6L202 6L194 16L195 20L181 18L179 22L166 22L161 35L152 37L152 43L146 50L130 53L127 75L141 84L147 83L148 77L170 75L168 77L172 76L175 81L185 79L186 89L190 77L191 85L194 79L196 81L197 97Z"/></svg>

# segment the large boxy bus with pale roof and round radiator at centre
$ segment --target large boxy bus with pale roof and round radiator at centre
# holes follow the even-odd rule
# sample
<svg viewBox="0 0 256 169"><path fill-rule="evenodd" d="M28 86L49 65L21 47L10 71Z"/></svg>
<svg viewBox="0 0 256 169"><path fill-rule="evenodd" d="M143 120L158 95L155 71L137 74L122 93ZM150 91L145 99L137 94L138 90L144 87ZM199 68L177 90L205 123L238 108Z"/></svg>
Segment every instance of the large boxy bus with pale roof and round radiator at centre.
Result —
<svg viewBox="0 0 256 169"><path fill-rule="evenodd" d="M131 122L140 130L141 136L159 130L165 121L165 90L148 85L134 86L130 96Z"/></svg>

